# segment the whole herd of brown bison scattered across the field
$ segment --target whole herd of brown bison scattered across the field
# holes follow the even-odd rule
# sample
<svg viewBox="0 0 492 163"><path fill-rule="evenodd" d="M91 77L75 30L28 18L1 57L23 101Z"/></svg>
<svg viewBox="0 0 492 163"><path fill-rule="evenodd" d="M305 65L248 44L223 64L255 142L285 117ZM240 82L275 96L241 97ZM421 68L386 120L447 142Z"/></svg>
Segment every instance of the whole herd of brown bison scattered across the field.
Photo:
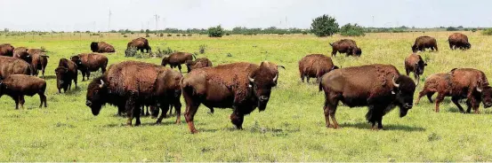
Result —
<svg viewBox="0 0 492 163"><path fill-rule="evenodd" d="M451 50L468 50L471 44L463 34L453 34L448 38ZM337 52L347 56L360 57L362 50L357 43L343 39L329 43L332 57ZM125 114L126 124L141 124L140 117L144 107L148 106L156 123L167 117L174 107L176 123L181 122L181 96L186 105L184 118L191 133L197 133L194 117L200 105L205 105L214 113L214 108L232 108L230 121L236 128L242 128L244 116L256 108L264 111L270 101L271 89L278 84L278 68L275 63L263 61L259 65L247 62L213 66L208 58L196 58L194 54L175 52L162 59L161 65L140 61L124 61L108 66L109 59L102 53L115 52L109 43L93 42L92 53L80 53L70 58L60 58L56 67L56 83L59 93L71 89L72 82L77 87L77 70L82 81L89 80L91 72L101 69L102 75L93 77L87 86L85 105L98 115L104 105L117 106L118 114ZM137 38L127 43L129 49L150 52L149 41ZM400 74L392 65L365 65L344 67L335 66L332 58L323 54L310 54L299 61L301 81L310 82L316 78L319 91L325 93L323 106L326 127L339 128L335 113L340 102L349 107L367 106L366 119L373 129L383 128L383 116L393 108L399 107L399 116L407 115L413 107L416 85L420 81L427 63L416 54L418 50L438 50L436 39L421 36L412 45L413 53L404 58L406 74ZM46 104L46 82L37 78L48 63L44 49L14 48L11 44L0 44L0 97L7 95L15 101L15 108L22 107L24 96L39 95L40 107ZM402 58L403 59L403 58ZM188 74L181 74L181 65L188 68ZM169 65L171 68L165 67ZM178 67L179 72L173 70ZM408 77L414 74L415 79ZM414 82L415 80L415 82ZM492 106L492 87L486 75L472 68L455 68L448 73L432 74L426 78L420 98L427 96L432 103L436 97L435 112L440 111L440 102L444 97L451 100L462 113L479 112L480 103L485 108ZM467 110L459 105L460 99L466 99ZM149 114L149 110L147 114ZM330 121L331 120L331 121Z"/></svg>

